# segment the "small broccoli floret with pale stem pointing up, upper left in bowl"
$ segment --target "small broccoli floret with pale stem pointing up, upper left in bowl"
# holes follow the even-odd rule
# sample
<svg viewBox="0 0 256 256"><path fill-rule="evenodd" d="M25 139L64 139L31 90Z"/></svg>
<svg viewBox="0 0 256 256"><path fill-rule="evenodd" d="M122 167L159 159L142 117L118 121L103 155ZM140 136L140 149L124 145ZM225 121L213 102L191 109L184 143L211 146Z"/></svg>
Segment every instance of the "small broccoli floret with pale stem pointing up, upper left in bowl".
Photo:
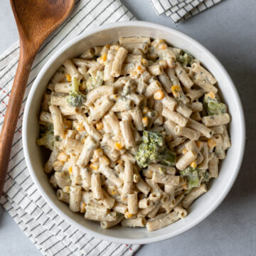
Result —
<svg viewBox="0 0 256 256"><path fill-rule="evenodd" d="M72 90L68 95L67 102L70 107L81 107L85 102L85 95L79 91L78 78L72 78Z"/></svg>

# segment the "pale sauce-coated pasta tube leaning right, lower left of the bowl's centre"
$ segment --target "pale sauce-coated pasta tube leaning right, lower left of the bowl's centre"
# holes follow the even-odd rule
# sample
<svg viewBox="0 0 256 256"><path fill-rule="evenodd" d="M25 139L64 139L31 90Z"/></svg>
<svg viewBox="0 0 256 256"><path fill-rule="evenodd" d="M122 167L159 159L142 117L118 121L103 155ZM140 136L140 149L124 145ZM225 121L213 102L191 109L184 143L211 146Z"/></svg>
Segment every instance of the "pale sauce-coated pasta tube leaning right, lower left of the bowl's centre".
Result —
<svg viewBox="0 0 256 256"><path fill-rule="evenodd" d="M80 167L86 166L90 159L92 158L93 151L97 149L98 144L92 139L91 136L88 136L85 139L85 144L82 147L82 152L78 158L77 164Z"/></svg>

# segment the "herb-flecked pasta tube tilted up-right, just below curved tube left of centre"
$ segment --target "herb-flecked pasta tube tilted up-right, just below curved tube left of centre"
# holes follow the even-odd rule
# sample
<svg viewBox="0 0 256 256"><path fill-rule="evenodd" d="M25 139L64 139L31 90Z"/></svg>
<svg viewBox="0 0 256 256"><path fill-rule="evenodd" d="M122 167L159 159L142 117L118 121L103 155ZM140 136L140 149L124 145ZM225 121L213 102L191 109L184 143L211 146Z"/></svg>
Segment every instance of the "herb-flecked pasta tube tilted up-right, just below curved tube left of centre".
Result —
<svg viewBox="0 0 256 256"><path fill-rule="evenodd" d="M114 105L114 101L110 100L110 97L106 97L102 104L97 105L90 116L88 117L88 122L90 124L96 124Z"/></svg>

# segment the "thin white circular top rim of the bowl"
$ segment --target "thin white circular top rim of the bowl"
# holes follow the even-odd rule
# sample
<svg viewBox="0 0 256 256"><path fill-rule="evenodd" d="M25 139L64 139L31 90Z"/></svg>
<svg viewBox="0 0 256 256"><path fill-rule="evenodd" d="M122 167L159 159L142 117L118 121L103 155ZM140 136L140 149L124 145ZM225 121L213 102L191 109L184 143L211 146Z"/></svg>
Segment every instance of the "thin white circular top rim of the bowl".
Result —
<svg viewBox="0 0 256 256"><path fill-rule="evenodd" d="M173 232L171 234L170 233L164 233L164 234L161 234L161 235L159 235L157 237L153 237L153 238L142 238L142 239L127 238L127 239L124 240L122 238L114 238L110 235L104 235L102 233L97 233L93 230L90 230L89 228L85 228L84 226L75 222L75 220L73 220L72 218L68 217L68 215L65 215L65 213L63 213L63 211L60 210L60 208L55 206L53 201L50 200L50 197L47 195L47 193L43 190L43 187L41 186L40 181L38 181L38 179L36 178L36 174L33 171L31 160L28 156L28 143L27 143L28 142L28 136L26 134L26 130L27 130L27 124L28 124L28 122L27 122L27 120L28 120L28 110L30 108L31 102L33 101L33 95L35 93L36 87L38 87L38 82L41 81L41 79L43 78L46 70L49 68L50 65L52 65L54 60L59 55L61 55L65 50L68 50L68 48L73 46L73 44L77 43L78 41L81 41L82 39L87 38L87 36L91 36L92 34L98 33L102 30L107 30L107 29L112 29L112 28L119 28L119 27L136 27L136 26L141 26L141 27L144 26L144 27L147 27L147 28L156 28L156 29L159 29L161 31L166 31L166 33L171 32L173 34L176 34L179 37L181 37L183 40L194 43L196 46L198 46L198 48L201 48L201 50L203 50L204 53L206 53L207 55L210 56L210 58L213 60L213 62L223 72L225 78L228 80L228 84L230 85L230 90L233 90L233 94L235 95L235 101L236 101L236 103L238 105L238 109L239 109L238 118L240 119L240 129L241 129L241 134L240 135L241 135L241 142L242 143L240 144L240 155L239 155L239 157L236 161L235 172L234 172L233 176L230 178L230 181L229 181L228 185L225 186L225 188L223 189L223 191L221 193L221 196L219 197L218 201L215 201L215 203L213 203L213 205L210 208L208 208L208 210L206 210L204 213L202 213L202 215L200 215L195 220L192 220L191 223L189 223L185 227L180 228L180 229L176 230L176 232ZM90 30L87 30L87 31L83 32L80 36L77 36L77 37L73 38L72 40L68 41L68 43L65 43L65 45L62 46L59 50L57 50L51 56L51 58L46 62L46 64L43 65L43 68L38 73L38 75L36 77L36 80L33 82L31 90L28 94L28 99L26 101L26 106L25 106L25 110L24 110L24 118L23 118L23 127L22 127L22 142L23 142L23 152L24 152L26 164L28 166L28 170L29 170L29 173L30 173L30 175L33 179L33 182L36 184L36 187L41 192L43 198L46 200L47 203L49 203L50 207L53 208L53 210L55 210L56 213L61 215L70 224L75 225L75 227L78 228L79 230L82 230L85 233L88 233L89 235L95 236L95 237L100 238L102 240L107 240L107 241L110 241L110 242L119 242L119 243L123 243L123 244L147 244L147 243L151 243L151 242L159 242L161 240L166 240L166 239L169 239L169 238L173 238L176 235L180 235L181 233L184 233L184 232L190 230L191 228L196 226L198 223L200 223L202 220L207 218L208 215L210 215L210 213L213 213L213 211L218 206L220 206L220 203L222 203L222 201L228 195L228 192L232 188L233 183L235 182L235 179L238 176L238 172L240 171L240 166L242 164L242 158L243 158L243 154L244 154L244 151L245 151L245 117L244 117L244 113L243 113L243 110L242 110L242 104L241 104L241 101L240 101L240 97L238 95L238 91L235 88L233 80L230 78L230 75L228 75L228 72L225 70L225 68L220 63L220 61L215 57L215 55L213 55L213 53L210 53L210 51L207 48L205 48L204 46L202 46L201 43L198 43L198 41L191 38L190 36L187 36L185 33L182 33L181 31L177 31L174 28L169 28L168 26L163 26L163 25L159 25L157 23L151 23L151 22L147 22L147 21L124 21L124 22L118 22L118 23L108 23L108 24L105 24L105 25L102 25L102 26L98 26L97 28L92 28Z"/></svg>

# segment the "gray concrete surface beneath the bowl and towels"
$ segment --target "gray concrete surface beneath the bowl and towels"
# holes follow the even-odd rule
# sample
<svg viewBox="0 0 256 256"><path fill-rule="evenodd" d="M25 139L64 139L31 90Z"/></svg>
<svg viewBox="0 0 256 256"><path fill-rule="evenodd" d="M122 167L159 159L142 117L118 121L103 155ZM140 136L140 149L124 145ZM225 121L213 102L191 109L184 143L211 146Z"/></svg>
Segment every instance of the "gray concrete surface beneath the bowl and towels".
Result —
<svg viewBox="0 0 256 256"><path fill-rule="evenodd" d="M206 220L176 238L144 245L147 255L256 255L256 3L225 0L188 21L156 16L149 0L122 0L139 20L161 23L195 38L217 56L233 78L245 111L247 143L240 174L225 201ZM0 10L0 53L18 40L9 1ZM41 255L0 207L0 255Z"/></svg>

